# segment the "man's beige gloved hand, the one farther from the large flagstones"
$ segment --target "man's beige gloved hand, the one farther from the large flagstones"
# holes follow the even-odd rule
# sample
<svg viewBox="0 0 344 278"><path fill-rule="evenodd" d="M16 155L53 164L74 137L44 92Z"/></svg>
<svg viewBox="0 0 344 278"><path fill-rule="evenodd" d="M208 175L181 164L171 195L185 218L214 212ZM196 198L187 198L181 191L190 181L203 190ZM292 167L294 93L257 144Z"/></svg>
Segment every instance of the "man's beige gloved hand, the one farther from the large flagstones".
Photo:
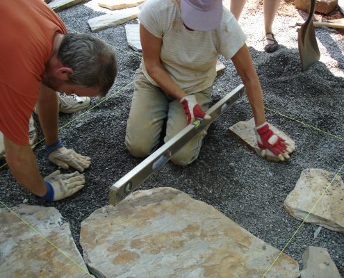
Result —
<svg viewBox="0 0 344 278"><path fill-rule="evenodd" d="M88 156L82 156L77 154L72 149L67 149L63 147L63 144L58 140L54 145L49 145L46 147L46 152L48 154L49 160L55 163L59 167L67 170L70 167L83 172L83 170L90 167L91 158Z"/></svg>

